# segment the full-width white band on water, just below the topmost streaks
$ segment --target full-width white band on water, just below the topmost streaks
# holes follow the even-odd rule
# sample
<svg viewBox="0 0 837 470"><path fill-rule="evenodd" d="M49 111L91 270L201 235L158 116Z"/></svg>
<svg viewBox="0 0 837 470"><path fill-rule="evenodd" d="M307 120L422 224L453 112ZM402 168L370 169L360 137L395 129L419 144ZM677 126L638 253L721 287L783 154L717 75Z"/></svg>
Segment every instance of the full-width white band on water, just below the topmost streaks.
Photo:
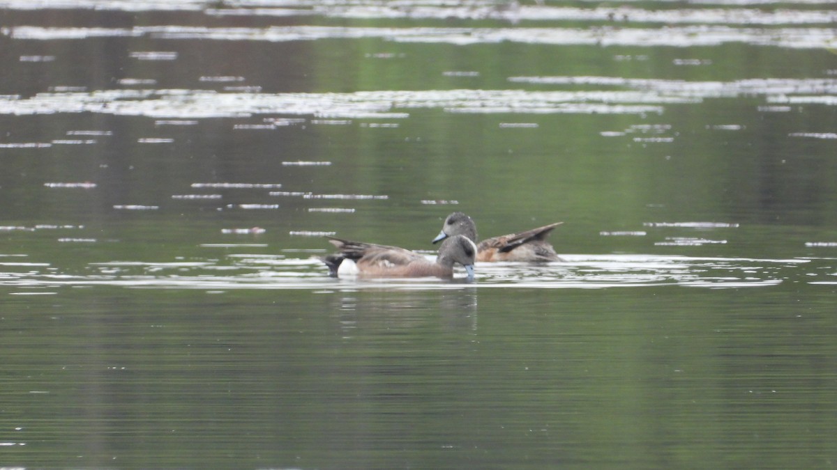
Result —
<svg viewBox="0 0 837 470"><path fill-rule="evenodd" d="M804 12L775 18L799 18ZM819 23L832 18L825 12L814 18ZM668 18L670 19L670 18ZM778 19L777 19L778 21ZM665 24L671 23L666 20ZM726 23L726 22L725 22ZM745 22L746 23L746 22ZM801 22L804 23L804 22ZM748 24L748 23L747 23ZM773 24L768 22L768 24ZM150 26L135 28L43 28L20 26L3 28L2 33L16 39L54 40L93 37L149 37L157 39L199 39L223 41L315 41L319 39L379 38L404 43L527 43L553 45L595 45L635 47L695 47L723 43L746 43L790 49L832 47L837 32L830 28L736 28L716 24L690 24L660 28L592 26L589 28L340 28L326 26L288 26L270 28L206 28ZM174 59L154 56L154 59Z"/></svg>

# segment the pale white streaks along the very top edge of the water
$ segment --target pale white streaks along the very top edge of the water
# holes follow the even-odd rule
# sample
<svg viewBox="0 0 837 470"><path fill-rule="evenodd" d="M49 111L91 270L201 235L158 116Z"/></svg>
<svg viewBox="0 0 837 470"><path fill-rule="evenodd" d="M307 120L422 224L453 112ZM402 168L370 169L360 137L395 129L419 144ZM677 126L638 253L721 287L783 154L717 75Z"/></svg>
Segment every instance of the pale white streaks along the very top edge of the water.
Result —
<svg viewBox="0 0 837 470"><path fill-rule="evenodd" d="M635 0L634 0L635 1ZM628 2L630 3L630 1ZM672 3L671 0L650 4ZM32 9L95 9L127 12L184 11L202 12L213 17L322 17L343 19L413 19L413 20L501 20L508 23L544 21L590 21L605 23L733 23L733 24L827 24L834 23L835 13L829 10L793 10L793 5L830 4L829 0L791 0L783 2L785 8L763 10L757 8L701 8L702 5L748 6L776 3L775 0L701 0L692 2L690 8L644 9L627 6L572 8L542 3L498 3L496 0L465 0L445 2L439 0L285 0L265 2L259 0L228 0L224 8L214 8L218 3L206 0L22 0L0 1L0 8L11 10ZM682 6L678 3L678 6Z"/></svg>

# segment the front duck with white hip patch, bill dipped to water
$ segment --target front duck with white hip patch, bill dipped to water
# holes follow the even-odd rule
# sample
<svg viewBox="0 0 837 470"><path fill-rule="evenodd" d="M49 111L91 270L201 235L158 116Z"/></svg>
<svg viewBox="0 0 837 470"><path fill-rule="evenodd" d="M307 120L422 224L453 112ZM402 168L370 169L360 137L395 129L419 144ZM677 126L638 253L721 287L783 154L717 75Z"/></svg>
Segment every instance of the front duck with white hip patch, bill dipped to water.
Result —
<svg viewBox="0 0 837 470"><path fill-rule="evenodd" d="M460 263L465 266L468 279L474 278L476 245L461 235L448 238L442 243L435 263L404 248L326 238L339 251L322 258L332 277L452 278L454 263Z"/></svg>

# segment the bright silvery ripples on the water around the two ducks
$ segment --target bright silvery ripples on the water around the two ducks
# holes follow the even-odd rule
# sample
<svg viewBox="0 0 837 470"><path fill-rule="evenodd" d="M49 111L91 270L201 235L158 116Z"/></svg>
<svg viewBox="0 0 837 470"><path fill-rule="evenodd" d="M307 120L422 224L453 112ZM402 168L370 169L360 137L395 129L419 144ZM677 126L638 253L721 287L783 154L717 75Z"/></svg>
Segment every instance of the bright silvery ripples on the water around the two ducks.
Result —
<svg viewBox="0 0 837 470"><path fill-rule="evenodd" d="M204 248L265 248L231 243ZM317 254L324 252L317 250ZM428 255L432 258L431 255ZM231 254L221 259L172 263L90 263L86 273L60 273L48 263L5 263L25 273L0 273L0 286L48 288L117 286L141 289L607 289L649 286L738 289L782 284L804 278L808 284L833 282L818 268L801 269L811 259L692 258L655 255L562 255L563 263L478 263L475 283L461 274L453 281L418 279L334 279L316 257Z"/></svg>

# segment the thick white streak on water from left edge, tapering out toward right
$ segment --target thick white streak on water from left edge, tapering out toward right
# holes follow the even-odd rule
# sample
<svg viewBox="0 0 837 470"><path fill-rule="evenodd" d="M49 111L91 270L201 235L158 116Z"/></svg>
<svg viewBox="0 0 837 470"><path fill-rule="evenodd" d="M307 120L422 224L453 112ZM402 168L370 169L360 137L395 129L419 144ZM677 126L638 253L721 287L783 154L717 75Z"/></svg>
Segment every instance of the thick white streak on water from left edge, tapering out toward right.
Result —
<svg viewBox="0 0 837 470"><path fill-rule="evenodd" d="M644 91L526 91L453 89L364 91L356 93L216 93L208 90L100 90L41 93L0 101L0 115L104 113L156 118L249 117L257 114L313 115L317 118L402 119L394 109L437 108L452 113L661 113L660 105L694 103L693 98ZM146 141L151 141L146 139ZM155 142L162 140L153 140ZM167 140L170 141L170 140Z"/></svg>

